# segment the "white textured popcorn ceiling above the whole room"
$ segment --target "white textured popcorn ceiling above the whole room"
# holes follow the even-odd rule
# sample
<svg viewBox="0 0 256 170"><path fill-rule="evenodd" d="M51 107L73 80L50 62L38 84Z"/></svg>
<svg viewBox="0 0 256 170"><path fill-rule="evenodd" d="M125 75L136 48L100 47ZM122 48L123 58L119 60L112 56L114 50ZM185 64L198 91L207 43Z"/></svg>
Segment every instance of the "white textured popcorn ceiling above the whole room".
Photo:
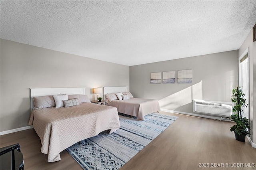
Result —
<svg viewBox="0 0 256 170"><path fill-rule="evenodd" d="M139 65L239 49L256 1L2 1L2 39Z"/></svg>

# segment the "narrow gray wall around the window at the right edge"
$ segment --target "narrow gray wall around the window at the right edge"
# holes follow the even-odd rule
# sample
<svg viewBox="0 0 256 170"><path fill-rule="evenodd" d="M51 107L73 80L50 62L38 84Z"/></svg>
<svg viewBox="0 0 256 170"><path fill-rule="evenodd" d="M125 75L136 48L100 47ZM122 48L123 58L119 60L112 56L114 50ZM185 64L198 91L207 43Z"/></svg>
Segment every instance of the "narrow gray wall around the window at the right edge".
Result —
<svg viewBox="0 0 256 170"><path fill-rule="evenodd" d="M250 89L250 138L256 143L256 42L252 42L252 30L238 51L240 57L246 48L249 47L249 89Z"/></svg>

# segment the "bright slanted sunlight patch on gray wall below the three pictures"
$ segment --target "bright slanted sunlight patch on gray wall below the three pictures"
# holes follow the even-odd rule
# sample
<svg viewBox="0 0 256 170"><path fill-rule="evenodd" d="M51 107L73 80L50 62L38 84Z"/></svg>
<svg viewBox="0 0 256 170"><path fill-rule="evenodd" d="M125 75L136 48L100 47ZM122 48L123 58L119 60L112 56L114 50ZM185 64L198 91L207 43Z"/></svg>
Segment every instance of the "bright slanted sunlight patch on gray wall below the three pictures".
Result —
<svg viewBox="0 0 256 170"><path fill-rule="evenodd" d="M186 89L160 99L159 105L162 109L174 110L191 103L192 99L203 99L202 80Z"/></svg>

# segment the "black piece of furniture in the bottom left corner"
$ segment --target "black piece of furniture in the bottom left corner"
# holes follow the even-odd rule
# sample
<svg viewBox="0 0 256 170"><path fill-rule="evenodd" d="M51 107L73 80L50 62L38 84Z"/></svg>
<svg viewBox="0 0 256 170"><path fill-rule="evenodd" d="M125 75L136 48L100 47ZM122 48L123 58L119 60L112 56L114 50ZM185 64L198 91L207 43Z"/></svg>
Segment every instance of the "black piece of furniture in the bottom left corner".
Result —
<svg viewBox="0 0 256 170"><path fill-rule="evenodd" d="M24 170L24 160L20 151L20 144L13 144L0 148L1 170Z"/></svg>

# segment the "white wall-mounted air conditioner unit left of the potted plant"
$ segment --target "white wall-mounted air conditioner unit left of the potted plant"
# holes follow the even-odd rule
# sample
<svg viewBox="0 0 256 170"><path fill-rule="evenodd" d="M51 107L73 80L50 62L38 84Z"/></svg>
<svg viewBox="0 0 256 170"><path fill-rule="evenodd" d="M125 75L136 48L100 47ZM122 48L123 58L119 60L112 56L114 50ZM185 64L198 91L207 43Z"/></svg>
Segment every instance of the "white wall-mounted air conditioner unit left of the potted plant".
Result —
<svg viewBox="0 0 256 170"><path fill-rule="evenodd" d="M230 117L232 114L232 103L193 99L193 112Z"/></svg>

